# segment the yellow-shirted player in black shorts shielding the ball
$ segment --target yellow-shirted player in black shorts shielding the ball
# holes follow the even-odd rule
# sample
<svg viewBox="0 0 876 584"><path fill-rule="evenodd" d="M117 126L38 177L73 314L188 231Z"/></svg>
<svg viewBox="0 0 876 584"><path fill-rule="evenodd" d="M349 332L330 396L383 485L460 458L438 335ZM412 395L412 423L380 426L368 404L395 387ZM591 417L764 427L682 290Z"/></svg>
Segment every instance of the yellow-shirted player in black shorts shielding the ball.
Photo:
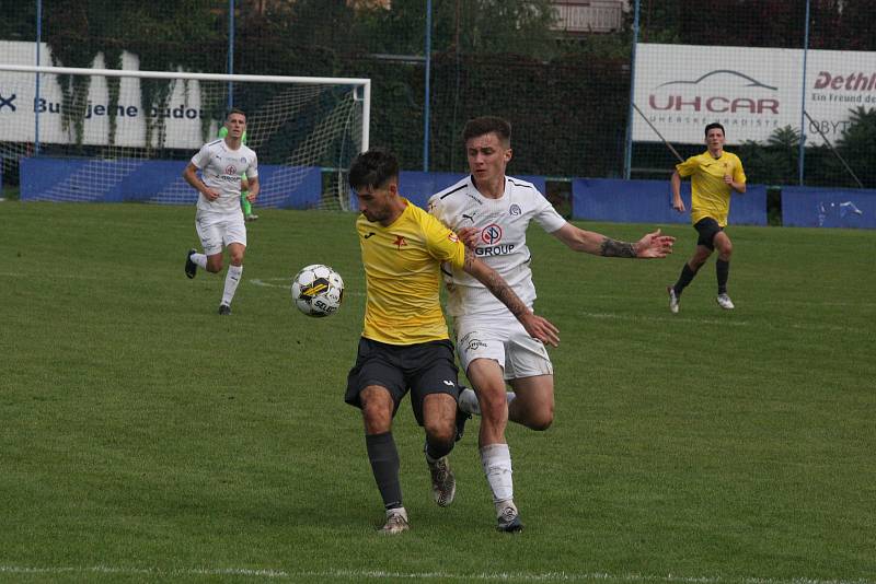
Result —
<svg viewBox="0 0 876 584"><path fill-rule="evenodd" d="M368 459L385 507L383 534L408 528L392 420L404 396L426 432L426 463L440 506L456 494L447 455L457 436L458 370L440 304L442 262L481 281L542 342L556 328L535 316L508 283L448 227L399 194L399 162L385 150L359 154L349 171L367 285L365 327L345 401L361 409Z"/></svg>

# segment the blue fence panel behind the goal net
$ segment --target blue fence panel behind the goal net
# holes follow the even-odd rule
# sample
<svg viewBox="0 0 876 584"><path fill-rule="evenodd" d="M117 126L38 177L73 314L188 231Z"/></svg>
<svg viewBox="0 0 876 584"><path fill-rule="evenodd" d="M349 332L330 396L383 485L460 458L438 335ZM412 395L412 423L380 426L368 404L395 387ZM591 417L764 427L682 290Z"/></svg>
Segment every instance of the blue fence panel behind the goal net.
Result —
<svg viewBox="0 0 876 584"><path fill-rule="evenodd" d="M197 192L182 178L186 162L142 160L21 160L21 199L44 201L140 201L194 205ZM260 207L308 209L320 203L319 167L262 165Z"/></svg>

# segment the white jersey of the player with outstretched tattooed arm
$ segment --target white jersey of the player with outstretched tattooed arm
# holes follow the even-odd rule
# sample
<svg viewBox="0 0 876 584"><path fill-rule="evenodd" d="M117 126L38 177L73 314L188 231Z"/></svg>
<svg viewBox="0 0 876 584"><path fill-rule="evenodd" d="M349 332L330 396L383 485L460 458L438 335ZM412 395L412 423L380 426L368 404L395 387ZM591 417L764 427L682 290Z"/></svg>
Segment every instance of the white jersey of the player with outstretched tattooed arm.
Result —
<svg viewBox="0 0 876 584"><path fill-rule="evenodd" d="M453 231L475 227L475 255L499 272L528 306L535 301L527 227L535 221L548 233L566 224L544 195L526 180L505 177L505 194L498 199L481 195L472 177L433 195L429 212ZM508 308L489 290L461 268L442 267L449 292L448 312L453 316L500 313Z"/></svg>

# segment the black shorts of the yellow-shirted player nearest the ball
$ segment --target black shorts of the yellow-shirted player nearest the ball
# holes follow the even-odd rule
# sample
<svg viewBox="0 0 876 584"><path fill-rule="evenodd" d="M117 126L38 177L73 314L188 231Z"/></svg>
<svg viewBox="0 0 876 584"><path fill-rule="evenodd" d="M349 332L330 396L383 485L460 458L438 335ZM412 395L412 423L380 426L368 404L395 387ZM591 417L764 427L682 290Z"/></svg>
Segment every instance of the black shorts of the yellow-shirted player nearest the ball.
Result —
<svg viewBox="0 0 876 584"><path fill-rule="evenodd" d="M411 392L411 407L417 423L423 425L423 398L429 394L449 394L459 398L453 344L449 340L417 344L387 344L376 340L359 339L356 365L347 375L344 401L361 408L359 393L369 385L379 385L392 395L392 414Z"/></svg>

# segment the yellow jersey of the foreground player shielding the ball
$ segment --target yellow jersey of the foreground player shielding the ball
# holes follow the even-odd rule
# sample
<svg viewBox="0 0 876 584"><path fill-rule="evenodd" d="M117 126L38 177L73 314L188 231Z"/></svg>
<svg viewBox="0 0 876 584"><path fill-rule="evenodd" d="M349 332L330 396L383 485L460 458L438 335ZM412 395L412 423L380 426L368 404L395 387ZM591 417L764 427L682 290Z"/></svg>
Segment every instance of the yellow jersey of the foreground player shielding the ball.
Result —
<svg viewBox="0 0 876 584"><path fill-rule="evenodd" d="M367 285L362 337L389 344L449 338L441 311L441 262L462 267L456 233L406 199L391 225L359 215L356 230Z"/></svg>

